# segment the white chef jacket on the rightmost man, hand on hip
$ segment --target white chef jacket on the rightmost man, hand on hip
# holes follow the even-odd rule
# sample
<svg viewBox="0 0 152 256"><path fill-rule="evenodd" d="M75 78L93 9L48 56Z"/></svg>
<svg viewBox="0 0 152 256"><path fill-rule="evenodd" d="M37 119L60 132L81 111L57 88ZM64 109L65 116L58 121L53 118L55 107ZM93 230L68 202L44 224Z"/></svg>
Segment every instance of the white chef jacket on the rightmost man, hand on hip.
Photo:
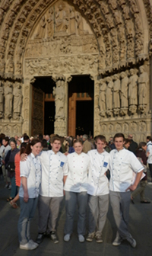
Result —
<svg viewBox="0 0 152 256"><path fill-rule="evenodd" d="M143 166L138 158L127 149L113 149L109 152L110 181L109 190L125 192L131 185L132 171L138 173L143 171Z"/></svg>

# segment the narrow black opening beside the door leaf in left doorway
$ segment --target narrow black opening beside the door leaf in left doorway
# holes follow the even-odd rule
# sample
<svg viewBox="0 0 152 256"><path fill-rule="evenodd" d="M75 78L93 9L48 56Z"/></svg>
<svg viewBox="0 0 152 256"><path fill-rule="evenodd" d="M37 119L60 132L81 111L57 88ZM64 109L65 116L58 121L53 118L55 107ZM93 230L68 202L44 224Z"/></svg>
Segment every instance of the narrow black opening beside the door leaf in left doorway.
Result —
<svg viewBox="0 0 152 256"><path fill-rule="evenodd" d="M45 102L44 109L44 134L50 135L54 133L55 101Z"/></svg>

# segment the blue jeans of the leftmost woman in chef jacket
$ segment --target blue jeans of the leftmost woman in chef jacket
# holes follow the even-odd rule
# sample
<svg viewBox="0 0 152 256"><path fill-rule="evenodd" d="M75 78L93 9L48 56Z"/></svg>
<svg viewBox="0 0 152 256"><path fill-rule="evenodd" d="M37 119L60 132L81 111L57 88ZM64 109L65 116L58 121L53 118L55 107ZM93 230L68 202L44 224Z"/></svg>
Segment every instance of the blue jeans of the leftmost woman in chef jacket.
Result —
<svg viewBox="0 0 152 256"><path fill-rule="evenodd" d="M21 245L26 245L30 240L30 220L36 211L38 197L29 198L27 203L20 197L21 214L18 220L18 237Z"/></svg>

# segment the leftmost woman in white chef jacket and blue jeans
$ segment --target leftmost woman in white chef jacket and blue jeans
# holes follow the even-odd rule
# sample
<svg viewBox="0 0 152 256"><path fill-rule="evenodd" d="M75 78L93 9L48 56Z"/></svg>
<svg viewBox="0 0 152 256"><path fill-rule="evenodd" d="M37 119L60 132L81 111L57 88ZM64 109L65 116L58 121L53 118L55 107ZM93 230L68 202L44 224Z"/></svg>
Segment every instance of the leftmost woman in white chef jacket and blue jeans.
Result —
<svg viewBox="0 0 152 256"><path fill-rule="evenodd" d="M18 220L18 235L20 248L33 250L38 244L30 239L30 220L33 219L39 197L41 164L37 155L42 145L39 139L33 139L27 145L25 153L27 160L21 162L21 187L19 191L21 215Z"/></svg>

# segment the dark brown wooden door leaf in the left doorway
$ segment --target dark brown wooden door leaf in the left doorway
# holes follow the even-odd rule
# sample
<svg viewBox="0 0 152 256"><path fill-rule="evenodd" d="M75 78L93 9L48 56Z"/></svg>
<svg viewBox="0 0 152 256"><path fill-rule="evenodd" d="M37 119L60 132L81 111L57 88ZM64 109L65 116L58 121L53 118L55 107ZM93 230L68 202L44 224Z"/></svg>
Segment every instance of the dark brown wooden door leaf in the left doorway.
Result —
<svg viewBox="0 0 152 256"><path fill-rule="evenodd" d="M44 133L44 92L33 86L32 92L32 136Z"/></svg>

